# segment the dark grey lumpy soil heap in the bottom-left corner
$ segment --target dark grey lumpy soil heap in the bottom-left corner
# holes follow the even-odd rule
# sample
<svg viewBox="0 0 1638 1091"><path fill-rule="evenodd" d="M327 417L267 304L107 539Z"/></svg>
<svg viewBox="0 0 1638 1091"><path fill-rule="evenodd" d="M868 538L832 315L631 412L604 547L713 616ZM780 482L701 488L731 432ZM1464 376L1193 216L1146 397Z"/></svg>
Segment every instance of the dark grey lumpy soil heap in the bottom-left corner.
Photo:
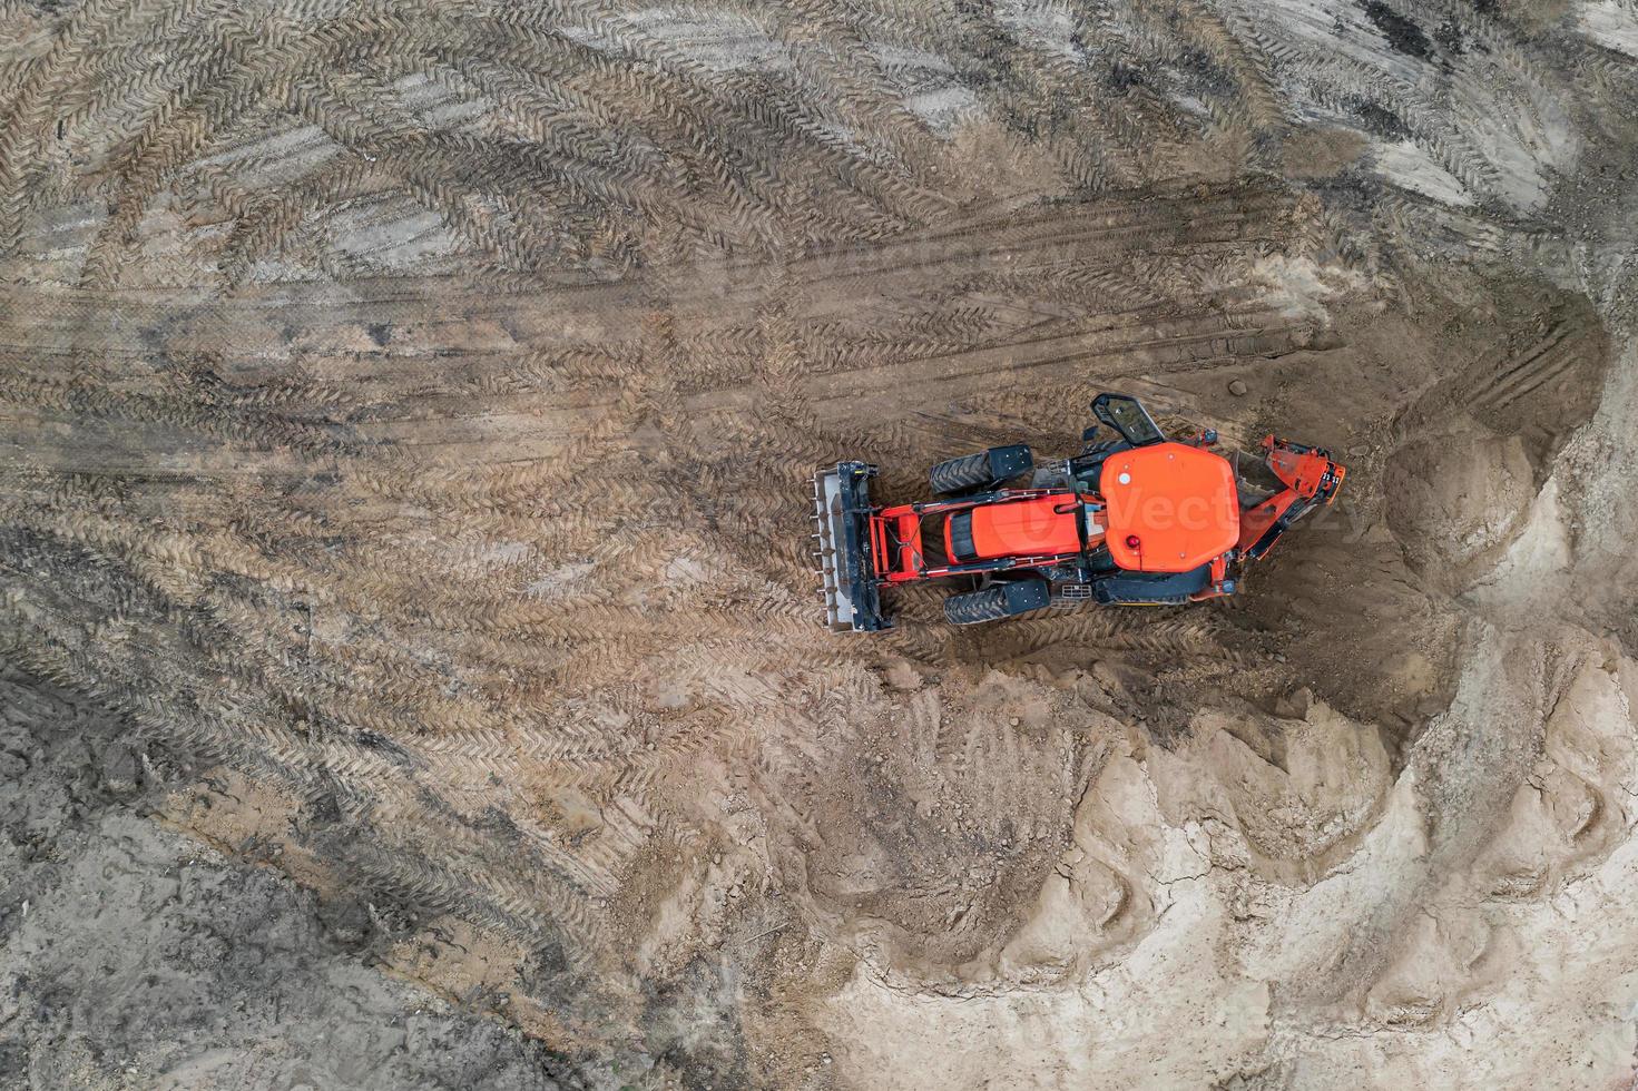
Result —
<svg viewBox="0 0 1638 1091"><path fill-rule="evenodd" d="M5 1006L11 1088L547 1091L567 1065L459 996L365 968L378 911L319 904L278 845L226 857L152 819L175 755L7 672Z"/></svg>

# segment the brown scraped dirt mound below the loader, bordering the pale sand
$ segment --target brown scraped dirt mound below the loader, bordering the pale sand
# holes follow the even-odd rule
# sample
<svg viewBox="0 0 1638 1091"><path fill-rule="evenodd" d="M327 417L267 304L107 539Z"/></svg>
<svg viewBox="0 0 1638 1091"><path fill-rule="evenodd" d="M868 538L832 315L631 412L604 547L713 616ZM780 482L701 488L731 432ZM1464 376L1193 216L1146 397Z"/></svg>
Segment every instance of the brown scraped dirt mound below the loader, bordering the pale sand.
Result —
<svg viewBox="0 0 1638 1091"><path fill-rule="evenodd" d="M783 893L885 971L993 980L1112 727L1073 688L996 672L852 706L822 763L785 757L760 785Z"/></svg>

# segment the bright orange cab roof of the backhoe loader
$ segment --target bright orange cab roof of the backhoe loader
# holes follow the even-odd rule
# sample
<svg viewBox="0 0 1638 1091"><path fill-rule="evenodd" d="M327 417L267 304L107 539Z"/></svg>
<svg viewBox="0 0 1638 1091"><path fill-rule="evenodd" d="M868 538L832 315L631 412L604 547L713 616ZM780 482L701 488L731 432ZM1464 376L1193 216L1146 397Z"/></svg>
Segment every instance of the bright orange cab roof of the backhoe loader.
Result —
<svg viewBox="0 0 1638 1091"><path fill-rule="evenodd" d="M1109 555L1122 568L1191 572L1240 539L1233 467L1210 450L1165 442L1115 452L1099 491Z"/></svg>

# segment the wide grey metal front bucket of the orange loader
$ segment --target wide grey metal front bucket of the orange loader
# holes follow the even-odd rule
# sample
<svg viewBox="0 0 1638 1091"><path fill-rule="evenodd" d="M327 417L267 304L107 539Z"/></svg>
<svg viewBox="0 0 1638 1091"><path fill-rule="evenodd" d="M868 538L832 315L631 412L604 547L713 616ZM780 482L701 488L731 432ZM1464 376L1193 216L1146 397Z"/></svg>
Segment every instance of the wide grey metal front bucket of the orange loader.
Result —
<svg viewBox="0 0 1638 1091"><path fill-rule="evenodd" d="M870 564L870 478L876 467L842 462L814 475L814 541L824 577L826 624L835 632L886 629Z"/></svg>

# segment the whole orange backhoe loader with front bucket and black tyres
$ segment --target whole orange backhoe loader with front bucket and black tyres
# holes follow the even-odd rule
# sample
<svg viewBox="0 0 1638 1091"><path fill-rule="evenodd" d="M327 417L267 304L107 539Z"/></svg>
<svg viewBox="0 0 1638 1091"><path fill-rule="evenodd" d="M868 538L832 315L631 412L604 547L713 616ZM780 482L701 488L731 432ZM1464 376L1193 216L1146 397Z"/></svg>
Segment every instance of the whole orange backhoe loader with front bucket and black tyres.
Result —
<svg viewBox="0 0 1638 1091"><path fill-rule="evenodd" d="M932 467L935 500L878 506L878 467L839 462L814 475L814 534L826 624L886 629L883 593L965 582L943 601L952 624L1079 603L1174 606L1233 595L1304 514L1337 500L1346 470L1320 447L1274 436L1260 457L1224 457L1217 432L1168 439L1129 395L1093 400L1081 452L1037 462L1027 444Z"/></svg>

